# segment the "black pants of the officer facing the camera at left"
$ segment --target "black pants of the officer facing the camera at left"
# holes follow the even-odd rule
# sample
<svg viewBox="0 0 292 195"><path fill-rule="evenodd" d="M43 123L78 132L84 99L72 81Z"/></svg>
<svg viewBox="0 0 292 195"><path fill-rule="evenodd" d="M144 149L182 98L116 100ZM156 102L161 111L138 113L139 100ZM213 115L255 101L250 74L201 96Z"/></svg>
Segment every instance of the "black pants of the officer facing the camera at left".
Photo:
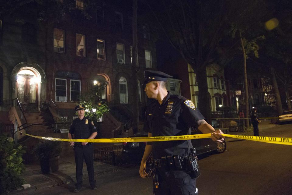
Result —
<svg viewBox="0 0 292 195"><path fill-rule="evenodd" d="M74 146L75 163L76 163L76 187L82 186L82 169L83 159L86 163L86 168L89 177L90 186L95 186L94 169L93 169L93 145Z"/></svg>

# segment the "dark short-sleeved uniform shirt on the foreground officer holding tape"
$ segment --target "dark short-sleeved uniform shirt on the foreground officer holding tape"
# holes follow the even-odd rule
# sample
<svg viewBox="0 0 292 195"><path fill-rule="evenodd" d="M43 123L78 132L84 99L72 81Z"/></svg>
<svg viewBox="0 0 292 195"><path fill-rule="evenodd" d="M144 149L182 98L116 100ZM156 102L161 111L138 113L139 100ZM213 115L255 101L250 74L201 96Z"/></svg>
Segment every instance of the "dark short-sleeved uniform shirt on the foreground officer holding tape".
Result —
<svg viewBox="0 0 292 195"><path fill-rule="evenodd" d="M180 95L168 92L160 105L158 101L148 105L145 112L144 131L152 136L189 135L190 126L198 127L198 121L204 119L193 102ZM189 142L189 143L188 143ZM153 158L166 155L186 156L192 144L187 140L152 142Z"/></svg>

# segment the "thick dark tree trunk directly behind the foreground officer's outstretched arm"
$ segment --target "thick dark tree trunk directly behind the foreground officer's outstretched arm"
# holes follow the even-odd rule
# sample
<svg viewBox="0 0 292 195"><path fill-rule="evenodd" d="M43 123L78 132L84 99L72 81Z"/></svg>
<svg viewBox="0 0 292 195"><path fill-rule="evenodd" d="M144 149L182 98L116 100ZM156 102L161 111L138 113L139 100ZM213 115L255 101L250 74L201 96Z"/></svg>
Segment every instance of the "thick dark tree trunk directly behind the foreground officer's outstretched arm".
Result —
<svg viewBox="0 0 292 195"><path fill-rule="evenodd" d="M195 68L192 66L193 69ZM200 67L200 66L198 66ZM196 69L196 77L199 87L199 104L198 109L201 114L205 117L205 120L211 124L211 105L210 105L210 95L208 92L208 82L207 82L207 70L206 66L201 69Z"/></svg>

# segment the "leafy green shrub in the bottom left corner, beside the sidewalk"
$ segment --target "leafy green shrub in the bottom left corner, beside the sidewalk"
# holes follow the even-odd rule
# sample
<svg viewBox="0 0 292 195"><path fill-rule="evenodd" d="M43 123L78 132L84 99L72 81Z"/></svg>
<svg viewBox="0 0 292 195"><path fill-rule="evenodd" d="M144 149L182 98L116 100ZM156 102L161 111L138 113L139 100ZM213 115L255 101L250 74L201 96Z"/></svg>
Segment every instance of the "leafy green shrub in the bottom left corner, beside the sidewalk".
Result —
<svg viewBox="0 0 292 195"><path fill-rule="evenodd" d="M15 144L13 138L0 135L0 194L15 190L23 184L19 175L24 171L21 144Z"/></svg>

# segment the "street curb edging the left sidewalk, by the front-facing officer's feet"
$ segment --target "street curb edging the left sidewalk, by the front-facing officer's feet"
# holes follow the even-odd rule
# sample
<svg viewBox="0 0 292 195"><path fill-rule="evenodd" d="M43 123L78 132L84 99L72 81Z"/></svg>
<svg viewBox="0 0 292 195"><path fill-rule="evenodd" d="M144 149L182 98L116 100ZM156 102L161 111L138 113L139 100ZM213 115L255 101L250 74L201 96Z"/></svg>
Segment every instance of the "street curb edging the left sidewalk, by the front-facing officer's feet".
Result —
<svg viewBox="0 0 292 195"><path fill-rule="evenodd" d="M116 168L109 168L108 170L103 170L103 171L97 171L97 172L94 172L94 175L103 175L103 174L107 174L107 173L111 173L111 172L116 172L117 170L122 170L124 168L122 167L116 167ZM45 178L51 180L51 178L48 178L46 175L43 175ZM76 176L68 176L64 179L56 179L56 180L52 180L52 181L48 181L48 182L45 182L45 183L41 183L41 184L37 184L37 185L34 185L34 186L31 186L30 188L26 188L26 189L22 189L22 188L19 188L17 190L14 190L14 191L11 191L11 192L8 192L6 194L8 195L14 195L14 194L29 194L29 193L32 193L36 190L41 190L41 189L45 189L45 188L52 188L54 186L59 186L59 185L62 185L62 184L70 184L70 183L74 183L74 179L76 178ZM86 180L88 179L88 173L85 173L83 174L83 177L82 177L83 180ZM69 183L67 183L68 181L70 181Z"/></svg>

